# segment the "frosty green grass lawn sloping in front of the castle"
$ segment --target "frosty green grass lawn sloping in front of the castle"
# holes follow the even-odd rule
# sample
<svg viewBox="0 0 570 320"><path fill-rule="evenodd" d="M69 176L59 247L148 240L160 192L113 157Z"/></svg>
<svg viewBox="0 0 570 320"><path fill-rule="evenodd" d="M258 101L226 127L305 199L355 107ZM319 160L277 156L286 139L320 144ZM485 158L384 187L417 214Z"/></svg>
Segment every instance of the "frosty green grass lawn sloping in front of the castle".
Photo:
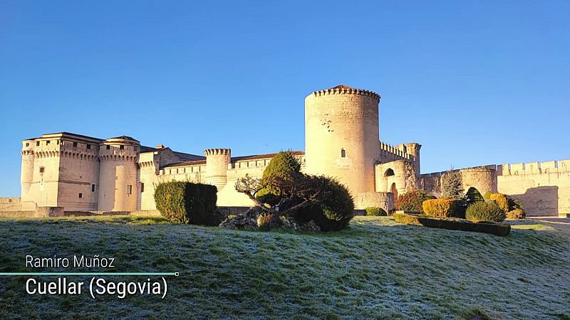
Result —
<svg viewBox="0 0 570 320"><path fill-rule="evenodd" d="M24 267L26 255L99 255L115 257L113 272L180 272L165 299L99 301L28 295L28 277L0 277L0 319L570 319L570 226L511 223L511 235L498 237L388 217L357 217L325 234L133 216L0 220L2 272L39 271ZM115 277L125 279L137 278Z"/></svg>

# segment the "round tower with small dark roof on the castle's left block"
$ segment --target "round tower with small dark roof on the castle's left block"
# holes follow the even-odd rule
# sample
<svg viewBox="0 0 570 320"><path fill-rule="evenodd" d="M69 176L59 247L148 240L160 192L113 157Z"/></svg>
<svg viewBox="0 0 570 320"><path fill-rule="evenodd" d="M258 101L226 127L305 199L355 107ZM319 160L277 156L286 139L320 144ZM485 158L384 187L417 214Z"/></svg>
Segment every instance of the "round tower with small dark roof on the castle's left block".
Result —
<svg viewBox="0 0 570 320"><path fill-rule="evenodd" d="M137 159L140 143L116 137L99 144L98 210L137 210Z"/></svg>

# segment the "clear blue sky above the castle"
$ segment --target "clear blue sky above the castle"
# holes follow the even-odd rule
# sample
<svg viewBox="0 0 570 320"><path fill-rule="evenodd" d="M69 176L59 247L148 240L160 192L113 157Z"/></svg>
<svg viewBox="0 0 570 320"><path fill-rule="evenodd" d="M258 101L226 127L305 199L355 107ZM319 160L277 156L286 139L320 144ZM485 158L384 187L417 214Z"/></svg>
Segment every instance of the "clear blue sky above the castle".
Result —
<svg viewBox="0 0 570 320"><path fill-rule="evenodd" d="M304 97L373 90L422 171L570 158L570 1L0 0L0 196L21 140L304 149Z"/></svg>

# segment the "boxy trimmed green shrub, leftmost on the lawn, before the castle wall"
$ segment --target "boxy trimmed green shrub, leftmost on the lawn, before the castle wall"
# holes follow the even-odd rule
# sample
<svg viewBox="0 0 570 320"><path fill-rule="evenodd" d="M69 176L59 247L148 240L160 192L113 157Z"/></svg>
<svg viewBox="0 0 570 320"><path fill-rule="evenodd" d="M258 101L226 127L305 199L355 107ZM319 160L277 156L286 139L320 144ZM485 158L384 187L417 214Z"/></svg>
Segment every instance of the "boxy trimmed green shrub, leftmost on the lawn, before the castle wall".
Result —
<svg viewBox="0 0 570 320"><path fill-rule="evenodd" d="M219 225L217 188L209 184L170 181L155 190L156 208L172 223Z"/></svg>

